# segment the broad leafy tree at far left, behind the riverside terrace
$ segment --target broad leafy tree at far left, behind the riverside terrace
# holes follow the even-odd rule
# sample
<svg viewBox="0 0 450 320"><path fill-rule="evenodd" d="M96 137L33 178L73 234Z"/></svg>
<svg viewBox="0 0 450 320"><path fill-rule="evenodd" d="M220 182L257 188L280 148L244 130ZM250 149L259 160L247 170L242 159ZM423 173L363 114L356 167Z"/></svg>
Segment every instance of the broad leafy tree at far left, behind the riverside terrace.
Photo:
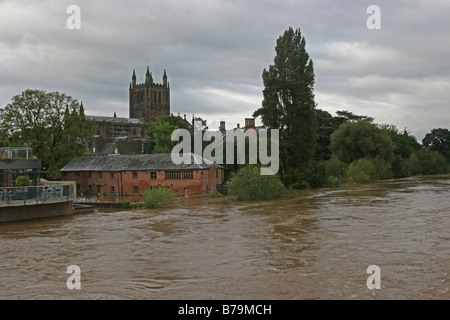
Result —
<svg viewBox="0 0 450 320"><path fill-rule="evenodd" d="M84 119L82 104L59 92L25 90L0 112L0 130L11 137L11 145L32 147L51 176L84 153L95 125Z"/></svg>

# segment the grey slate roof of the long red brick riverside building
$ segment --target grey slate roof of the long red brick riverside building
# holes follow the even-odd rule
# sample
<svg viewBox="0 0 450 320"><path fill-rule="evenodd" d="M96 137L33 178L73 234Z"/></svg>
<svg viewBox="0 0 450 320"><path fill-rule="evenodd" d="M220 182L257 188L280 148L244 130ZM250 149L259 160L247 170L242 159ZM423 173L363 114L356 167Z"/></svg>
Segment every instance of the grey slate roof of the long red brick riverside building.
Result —
<svg viewBox="0 0 450 320"><path fill-rule="evenodd" d="M148 171L148 170L198 170L212 166L222 168L205 158L190 154L190 164L176 165L171 154L109 155L101 157L79 157L70 161L61 172L69 171Z"/></svg>

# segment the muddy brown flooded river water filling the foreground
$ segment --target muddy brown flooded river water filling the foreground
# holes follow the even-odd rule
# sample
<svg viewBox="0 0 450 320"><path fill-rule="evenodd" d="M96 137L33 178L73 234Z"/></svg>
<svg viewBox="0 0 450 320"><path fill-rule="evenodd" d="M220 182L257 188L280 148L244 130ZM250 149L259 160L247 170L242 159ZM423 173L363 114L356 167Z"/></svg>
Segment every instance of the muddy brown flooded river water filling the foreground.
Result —
<svg viewBox="0 0 450 320"><path fill-rule="evenodd" d="M450 299L449 229L449 175L5 223L0 299Z"/></svg>

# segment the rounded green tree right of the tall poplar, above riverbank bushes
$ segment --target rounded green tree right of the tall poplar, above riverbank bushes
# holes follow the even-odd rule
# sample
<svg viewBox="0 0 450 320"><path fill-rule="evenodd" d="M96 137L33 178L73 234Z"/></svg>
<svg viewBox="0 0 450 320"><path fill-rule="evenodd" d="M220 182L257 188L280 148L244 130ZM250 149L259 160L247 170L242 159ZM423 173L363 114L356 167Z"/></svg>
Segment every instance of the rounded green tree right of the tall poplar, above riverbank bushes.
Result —
<svg viewBox="0 0 450 320"><path fill-rule="evenodd" d="M338 160L347 164L377 156L391 161L394 154L394 143L387 130L366 120L342 124L331 135L330 148Z"/></svg>

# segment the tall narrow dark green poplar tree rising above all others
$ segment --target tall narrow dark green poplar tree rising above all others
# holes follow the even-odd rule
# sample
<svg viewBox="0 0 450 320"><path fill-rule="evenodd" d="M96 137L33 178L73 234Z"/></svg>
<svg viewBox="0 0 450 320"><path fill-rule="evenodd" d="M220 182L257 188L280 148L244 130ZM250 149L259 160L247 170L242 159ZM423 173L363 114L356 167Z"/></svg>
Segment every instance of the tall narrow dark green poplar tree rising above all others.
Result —
<svg viewBox="0 0 450 320"><path fill-rule="evenodd" d="M314 67L300 29L289 28L277 39L274 64L264 69L261 117L266 128L280 130L280 173L304 172L315 154ZM285 180L285 179L284 179Z"/></svg>

